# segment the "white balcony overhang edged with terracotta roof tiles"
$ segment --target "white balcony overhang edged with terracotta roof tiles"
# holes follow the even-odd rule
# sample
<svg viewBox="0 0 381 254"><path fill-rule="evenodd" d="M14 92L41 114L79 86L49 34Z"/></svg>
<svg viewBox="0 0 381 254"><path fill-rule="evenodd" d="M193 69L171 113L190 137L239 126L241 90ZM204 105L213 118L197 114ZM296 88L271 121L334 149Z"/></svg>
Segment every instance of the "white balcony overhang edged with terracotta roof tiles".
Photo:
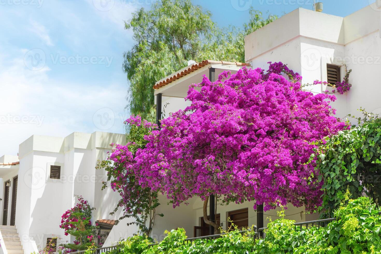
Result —
<svg viewBox="0 0 381 254"><path fill-rule="evenodd" d="M154 85L154 95L160 93L162 96L184 98L187 96L190 85L200 83L203 75L208 77L210 68L215 69L215 77L217 78L225 70L230 70L234 74L243 66L251 65L241 62L212 60L192 64L157 81Z"/></svg>

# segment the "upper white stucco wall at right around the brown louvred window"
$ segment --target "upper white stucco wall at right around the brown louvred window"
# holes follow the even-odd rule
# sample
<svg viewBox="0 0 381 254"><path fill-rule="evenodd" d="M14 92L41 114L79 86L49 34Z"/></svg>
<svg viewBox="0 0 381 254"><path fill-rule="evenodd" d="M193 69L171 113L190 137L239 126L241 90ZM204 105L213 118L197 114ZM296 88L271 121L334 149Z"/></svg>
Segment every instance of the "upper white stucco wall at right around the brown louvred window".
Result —
<svg viewBox="0 0 381 254"><path fill-rule="evenodd" d="M282 61L302 75L303 83L327 81L327 64L341 65L341 79L352 69L351 90L336 93L337 100L331 104L336 116L361 116L360 107L381 113L380 31L381 10L375 3L344 18L298 8L247 35L245 58L253 68L265 70L268 61ZM325 85L306 89L314 93L332 90Z"/></svg>

